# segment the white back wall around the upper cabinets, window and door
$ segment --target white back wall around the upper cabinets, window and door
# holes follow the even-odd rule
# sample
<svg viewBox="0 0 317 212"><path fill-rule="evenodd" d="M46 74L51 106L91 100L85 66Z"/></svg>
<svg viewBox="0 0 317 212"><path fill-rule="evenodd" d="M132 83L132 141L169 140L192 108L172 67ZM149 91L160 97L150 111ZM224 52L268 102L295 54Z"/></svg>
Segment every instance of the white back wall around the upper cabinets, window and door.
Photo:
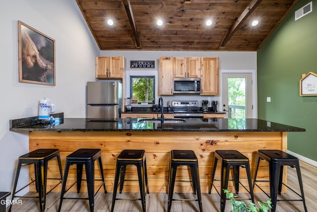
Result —
<svg viewBox="0 0 317 212"><path fill-rule="evenodd" d="M129 85L130 75L140 75L149 73L148 75L156 76L159 71L159 57L219 57L219 69L221 70L257 70L257 52L181 52L181 51L101 51L101 56L124 56L126 71L126 82ZM130 69L130 61L155 61L155 69ZM219 74L220 74L219 73ZM146 74L145 74L146 75ZM158 83L156 82L156 87ZM129 96L130 86L126 86L126 97ZM158 89L156 89L158 94ZM172 100L198 100L201 106L201 100L217 100L219 96L200 96L200 95L173 95L163 96L164 106L168 106L168 101ZM158 104L158 96L156 96L156 104Z"/></svg>

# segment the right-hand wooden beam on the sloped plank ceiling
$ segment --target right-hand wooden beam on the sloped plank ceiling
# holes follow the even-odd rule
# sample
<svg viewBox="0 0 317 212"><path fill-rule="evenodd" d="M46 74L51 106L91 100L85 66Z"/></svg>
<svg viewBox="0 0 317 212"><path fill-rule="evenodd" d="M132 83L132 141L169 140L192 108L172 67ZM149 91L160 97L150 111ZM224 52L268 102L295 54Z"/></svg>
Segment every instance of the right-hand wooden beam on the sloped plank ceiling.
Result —
<svg viewBox="0 0 317 212"><path fill-rule="evenodd" d="M227 31L226 35L224 36L220 47L224 47L224 45L228 42L231 38L233 33L240 27L245 19L249 17L249 15L257 8L257 6L261 3L262 0L252 0L250 4L245 8L245 10L241 13L240 17L235 19L229 30Z"/></svg>

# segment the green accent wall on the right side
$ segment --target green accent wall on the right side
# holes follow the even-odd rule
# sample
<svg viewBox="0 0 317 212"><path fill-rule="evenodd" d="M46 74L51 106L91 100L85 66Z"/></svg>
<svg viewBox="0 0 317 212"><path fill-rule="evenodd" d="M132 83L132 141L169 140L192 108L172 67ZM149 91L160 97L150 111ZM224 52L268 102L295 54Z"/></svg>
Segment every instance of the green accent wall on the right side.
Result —
<svg viewBox="0 0 317 212"><path fill-rule="evenodd" d="M258 50L258 118L305 128L288 133L288 150L317 161L317 96L299 95L302 74L317 73L317 0L295 21L310 1L298 0Z"/></svg>

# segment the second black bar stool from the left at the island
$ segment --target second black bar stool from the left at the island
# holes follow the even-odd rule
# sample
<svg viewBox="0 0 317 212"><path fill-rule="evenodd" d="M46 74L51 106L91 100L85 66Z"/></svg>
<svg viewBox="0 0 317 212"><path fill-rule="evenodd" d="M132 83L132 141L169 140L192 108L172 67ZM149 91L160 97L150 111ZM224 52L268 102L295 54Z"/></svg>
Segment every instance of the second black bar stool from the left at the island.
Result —
<svg viewBox="0 0 317 212"><path fill-rule="evenodd" d="M95 160L99 161L99 168L101 172L102 179L95 179ZM68 176L69 167L73 164L76 164L76 181L67 189L66 187L66 181ZM86 170L86 179L82 179L82 173L83 173L83 165L85 165ZM88 198L70 198L70 197L64 197L64 194L77 183L77 193L80 191L81 181L87 180L87 190L88 190ZM95 193L95 180L102 181L102 184L100 185L99 189ZM63 178L63 184L61 188L60 193L60 201L58 206L58 212L60 212L61 205L64 199L73 199L73 200L89 200L89 208L91 212L94 212L94 198L95 195L98 193L98 191L101 189L101 187L104 187L105 193L107 193L106 185L105 185L105 176L104 176L104 169L103 169L103 163L101 158L101 149L93 149L93 148L81 148L73 153L69 154L66 157L65 162L65 170L64 170L64 178Z"/></svg>

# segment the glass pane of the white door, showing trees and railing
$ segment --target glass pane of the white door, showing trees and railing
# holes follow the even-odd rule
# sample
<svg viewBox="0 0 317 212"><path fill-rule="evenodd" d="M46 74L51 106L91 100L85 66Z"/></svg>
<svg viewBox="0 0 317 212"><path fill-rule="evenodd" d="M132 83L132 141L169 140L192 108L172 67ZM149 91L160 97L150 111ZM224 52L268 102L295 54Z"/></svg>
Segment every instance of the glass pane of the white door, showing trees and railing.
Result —
<svg viewBox="0 0 317 212"><path fill-rule="evenodd" d="M229 118L245 118L246 78L228 78Z"/></svg>

